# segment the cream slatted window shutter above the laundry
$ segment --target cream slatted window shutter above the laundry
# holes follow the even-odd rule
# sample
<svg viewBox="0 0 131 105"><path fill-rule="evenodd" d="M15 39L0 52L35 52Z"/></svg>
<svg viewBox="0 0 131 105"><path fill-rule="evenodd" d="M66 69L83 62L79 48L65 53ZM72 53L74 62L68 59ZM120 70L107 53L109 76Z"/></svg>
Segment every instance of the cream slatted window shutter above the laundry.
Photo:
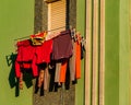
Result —
<svg viewBox="0 0 131 105"><path fill-rule="evenodd" d="M55 28L59 28L55 32L66 30L66 0L48 4L48 31Z"/></svg>

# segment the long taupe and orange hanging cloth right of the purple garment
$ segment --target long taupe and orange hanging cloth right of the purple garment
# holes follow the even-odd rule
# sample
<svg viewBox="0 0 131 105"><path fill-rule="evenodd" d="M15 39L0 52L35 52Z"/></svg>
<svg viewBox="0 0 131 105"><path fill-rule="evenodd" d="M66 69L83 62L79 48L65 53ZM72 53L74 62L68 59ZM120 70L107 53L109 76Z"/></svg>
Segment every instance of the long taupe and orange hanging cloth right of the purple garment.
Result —
<svg viewBox="0 0 131 105"><path fill-rule="evenodd" d="M75 39L72 39L73 45L73 55L69 59L70 77L71 81L81 78L81 57L82 57L82 46L81 46L81 36L75 35Z"/></svg>

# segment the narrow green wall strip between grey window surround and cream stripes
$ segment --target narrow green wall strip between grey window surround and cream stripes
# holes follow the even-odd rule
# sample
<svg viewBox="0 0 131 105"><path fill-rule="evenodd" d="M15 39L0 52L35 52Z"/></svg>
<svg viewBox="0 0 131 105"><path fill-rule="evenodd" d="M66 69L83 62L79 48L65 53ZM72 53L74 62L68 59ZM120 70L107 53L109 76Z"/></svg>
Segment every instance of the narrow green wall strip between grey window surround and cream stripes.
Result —
<svg viewBox="0 0 131 105"><path fill-rule="evenodd" d="M85 35L85 1L76 0L76 31ZM84 60L82 61L82 78L75 89L75 105L84 105Z"/></svg>

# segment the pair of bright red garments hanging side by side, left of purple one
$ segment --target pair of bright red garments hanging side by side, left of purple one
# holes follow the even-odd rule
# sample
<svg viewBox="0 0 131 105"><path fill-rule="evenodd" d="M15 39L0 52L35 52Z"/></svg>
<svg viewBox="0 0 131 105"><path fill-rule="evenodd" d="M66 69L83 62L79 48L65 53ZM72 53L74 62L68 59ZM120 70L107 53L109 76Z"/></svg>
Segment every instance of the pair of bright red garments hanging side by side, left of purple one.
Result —
<svg viewBox="0 0 131 105"><path fill-rule="evenodd" d="M16 77L21 75L21 68L33 70L33 75L38 75L37 65L50 62L50 54L52 50L52 39L44 42L40 46L32 46L29 40L17 43L17 57L15 61ZM26 63L25 63L26 62Z"/></svg>

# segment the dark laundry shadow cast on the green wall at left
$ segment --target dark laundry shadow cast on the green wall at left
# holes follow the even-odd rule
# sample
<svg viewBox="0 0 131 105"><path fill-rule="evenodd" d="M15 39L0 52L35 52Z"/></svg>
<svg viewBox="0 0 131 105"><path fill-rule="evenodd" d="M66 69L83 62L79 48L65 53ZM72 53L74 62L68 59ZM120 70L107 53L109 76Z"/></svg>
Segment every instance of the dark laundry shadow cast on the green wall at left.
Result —
<svg viewBox="0 0 131 105"><path fill-rule="evenodd" d="M5 56L8 67L11 67L10 73L9 73L9 84L10 88L15 88L15 96L17 97L20 95L20 88L19 88L19 79L15 77L15 59L16 54L11 54ZM32 83L33 77L28 72L23 72L23 81L25 82L26 88L31 88L33 85Z"/></svg>

